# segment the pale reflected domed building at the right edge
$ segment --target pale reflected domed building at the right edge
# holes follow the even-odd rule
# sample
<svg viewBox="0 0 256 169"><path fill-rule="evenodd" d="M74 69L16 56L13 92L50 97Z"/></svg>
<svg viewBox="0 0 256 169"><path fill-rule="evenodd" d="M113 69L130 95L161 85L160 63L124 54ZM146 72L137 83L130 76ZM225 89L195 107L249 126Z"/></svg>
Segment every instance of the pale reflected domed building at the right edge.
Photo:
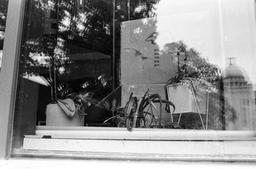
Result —
<svg viewBox="0 0 256 169"><path fill-rule="evenodd" d="M223 93L225 105L234 108L235 115L232 118L227 118L225 114L225 129L253 129L256 109L252 82L250 82L246 71L237 66L234 57L228 58L227 62L227 68L221 73Z"/></svg>

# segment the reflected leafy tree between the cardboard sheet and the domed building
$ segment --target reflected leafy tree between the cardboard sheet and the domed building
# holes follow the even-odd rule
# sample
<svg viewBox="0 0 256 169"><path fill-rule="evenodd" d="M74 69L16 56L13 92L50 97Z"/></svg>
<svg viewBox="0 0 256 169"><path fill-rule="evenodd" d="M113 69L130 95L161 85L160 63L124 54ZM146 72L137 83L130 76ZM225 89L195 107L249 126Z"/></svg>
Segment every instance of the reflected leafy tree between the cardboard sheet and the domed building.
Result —
<svg viewBox="0 0 256 169"><path fill-rule="evenodd" d="M170 52L172 57L177 49L182 47L182 54L179 58L174 58L174 62L179 59L179 72L177 77L173 78L174 82L180 82L182 78L195 79L195 91L209 92L209 128L211 129L225 129L226 121L236 121L236 110L230 106L227 98L223 95L223 79L221 77L220 68L209 63L207 60L200 56L200 53L195 48L188 48L183 41L177 43L168 43L164 47L164 52ZM181 73L180 73L181 72ZM225 101L224 101L225 100ZM192 127L192 129L194 129Z"/></svg>

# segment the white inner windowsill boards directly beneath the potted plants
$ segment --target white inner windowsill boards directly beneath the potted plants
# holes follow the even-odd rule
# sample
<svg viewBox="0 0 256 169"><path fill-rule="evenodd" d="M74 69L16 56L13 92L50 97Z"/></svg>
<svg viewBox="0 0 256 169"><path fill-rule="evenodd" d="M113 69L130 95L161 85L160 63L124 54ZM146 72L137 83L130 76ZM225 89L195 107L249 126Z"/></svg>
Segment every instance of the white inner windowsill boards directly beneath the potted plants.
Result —
<svg viewBox="0 0 256 169"><path fill-rule="evenodd" d="M28 154L29 151L95 152L218 159L252 156L255 160L255 137L255 131L135 128L129 132L126 128L37 126L36 135L25 136L23 151Z"/></svg>

